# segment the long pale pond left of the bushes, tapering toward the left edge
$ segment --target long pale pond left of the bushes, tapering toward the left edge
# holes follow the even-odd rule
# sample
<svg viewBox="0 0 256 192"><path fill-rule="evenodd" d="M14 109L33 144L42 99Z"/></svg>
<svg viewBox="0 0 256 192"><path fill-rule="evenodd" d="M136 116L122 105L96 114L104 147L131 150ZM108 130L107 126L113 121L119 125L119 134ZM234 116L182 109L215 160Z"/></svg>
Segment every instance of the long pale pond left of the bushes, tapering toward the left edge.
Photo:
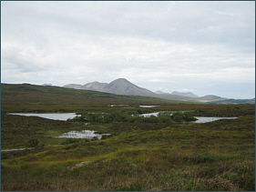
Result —
<svg viewBox="0 0 256 192"><path fill-rule="evenodd" d="M74 118L75 113L54 113L54 114L37 114L37 113L8 113L7 115L17 115L17 116L39 116L43 118L53 119L53 120L61 120L67 121L67 118Z"/></svg>

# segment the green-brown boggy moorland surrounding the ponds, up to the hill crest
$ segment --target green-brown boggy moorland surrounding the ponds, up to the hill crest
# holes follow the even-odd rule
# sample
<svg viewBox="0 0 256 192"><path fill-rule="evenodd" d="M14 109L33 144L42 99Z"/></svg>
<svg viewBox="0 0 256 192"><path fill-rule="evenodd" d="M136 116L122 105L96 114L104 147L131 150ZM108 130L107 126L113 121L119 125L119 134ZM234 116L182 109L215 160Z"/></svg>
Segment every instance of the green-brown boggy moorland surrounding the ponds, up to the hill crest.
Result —
<svg viewBox="0 0 256 192"><path fill-rule="evenodd" d="M255 107L179 103L51 86L2 85L2 191L254 191ZM6 112L130 112L189 110L197 116L239 116L206 124L55 121ZM140 108L139 105L156 105ZM70 130L114 136L60 145ZM82 167L75 167L84 162Z"/></svg>

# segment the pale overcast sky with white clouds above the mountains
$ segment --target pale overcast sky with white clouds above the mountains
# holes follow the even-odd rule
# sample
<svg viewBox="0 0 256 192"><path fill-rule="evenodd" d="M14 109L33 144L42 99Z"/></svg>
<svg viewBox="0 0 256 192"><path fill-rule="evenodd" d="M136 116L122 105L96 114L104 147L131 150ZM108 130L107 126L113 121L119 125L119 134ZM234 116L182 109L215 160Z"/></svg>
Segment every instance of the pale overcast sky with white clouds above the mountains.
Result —
<svg viewBox="0 0 256 192"><path fill-rule="evenodd" d="M255 2L1 2L1 82L255 96Z"/></svg>

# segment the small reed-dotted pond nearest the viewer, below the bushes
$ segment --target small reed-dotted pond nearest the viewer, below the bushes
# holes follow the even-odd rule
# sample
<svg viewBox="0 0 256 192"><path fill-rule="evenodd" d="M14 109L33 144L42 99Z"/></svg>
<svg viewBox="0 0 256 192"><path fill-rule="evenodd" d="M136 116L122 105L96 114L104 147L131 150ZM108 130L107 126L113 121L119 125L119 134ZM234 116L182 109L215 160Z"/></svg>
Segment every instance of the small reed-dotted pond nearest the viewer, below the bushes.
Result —
<svg viewBox="0 0 256 192"><path fill-rule="evenodd" d="M101 139L102 136L109 136L110 134L95 134L97 131L82 130L82 131L69 131L61 136L56 136L56 138L89 138L92 139L97 136L97 139Z"/></svg>

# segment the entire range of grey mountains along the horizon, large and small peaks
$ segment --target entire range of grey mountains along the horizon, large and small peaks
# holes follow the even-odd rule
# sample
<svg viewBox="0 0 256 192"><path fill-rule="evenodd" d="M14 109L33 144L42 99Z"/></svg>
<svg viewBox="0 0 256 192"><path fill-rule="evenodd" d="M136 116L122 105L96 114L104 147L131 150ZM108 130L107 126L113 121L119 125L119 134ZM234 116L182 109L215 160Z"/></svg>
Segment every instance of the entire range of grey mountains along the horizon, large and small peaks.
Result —
<svg viewBox="0 0 256 192"><path fill-rule="evenodd" d="M99 83L97 81L87 83L84 86L77 85L77 84L68 84L64 86L66 88L75 88L75 89L86 89L86 90L93 90L93 91L99 91L99 92L106 92L111 94L117 94L117 95L132 95L132 96L153 96L158 98L165 98L170 100L179 100L179 101L189 101L189 102L220 102L224 101L226 99L220 97L220 96L196 96L191 92L187 93L180 93L177 91L169 93L164 93L161 91L157 91L156 93L149 91L146 88L142 88L139 86L136 86L129 82L125 78L118 78L112 82L108 83ZM240 99L238 99L240 100ZM252 100L255 103L255 100ZM231 101L230 101L231 102ZM251 102L251 100L250 100ZM221 102L220 102L221 103ZM235 103L239 103L239 101L236 100Z"/></svg>

